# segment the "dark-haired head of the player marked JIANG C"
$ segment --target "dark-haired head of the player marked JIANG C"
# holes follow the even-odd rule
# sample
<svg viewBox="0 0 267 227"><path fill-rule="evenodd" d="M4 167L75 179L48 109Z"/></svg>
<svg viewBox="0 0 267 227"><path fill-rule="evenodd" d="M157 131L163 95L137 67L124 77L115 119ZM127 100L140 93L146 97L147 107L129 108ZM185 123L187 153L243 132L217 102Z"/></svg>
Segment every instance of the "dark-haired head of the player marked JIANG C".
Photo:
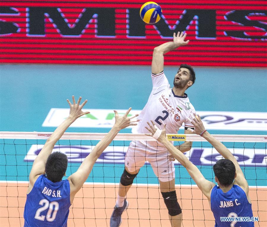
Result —
<svg viewBox="0 0 267 227"><path fill-rule="evenodd" d="M229 186L233 183L236 174L236 167L229 159L220 159L213 166L215 176L223 186Z"/></svg>

